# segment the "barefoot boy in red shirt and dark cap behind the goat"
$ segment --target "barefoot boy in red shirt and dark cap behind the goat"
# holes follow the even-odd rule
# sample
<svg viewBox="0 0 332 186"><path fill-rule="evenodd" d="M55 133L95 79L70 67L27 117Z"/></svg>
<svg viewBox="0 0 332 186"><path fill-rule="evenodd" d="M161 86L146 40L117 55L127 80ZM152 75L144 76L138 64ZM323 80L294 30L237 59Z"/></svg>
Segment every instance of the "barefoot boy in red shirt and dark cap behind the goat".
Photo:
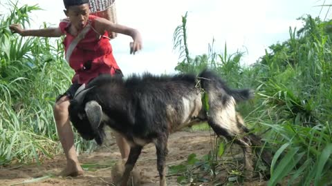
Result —
<svg viewBox="0 0 332 186"><path fill-rule="evenodd" d="M69 102L73 99L80 85L89 83L91 79L100 74L122 76L122 72L113 57L108 33L116 32L130 36L133 39L133 42L130 43L131 54L142 49L142 39L138 30L90 15L89 0L64 0L64 6L66 8L64 13L68 19L61 21L58 28L24 30L20 25L12 24L10 30L21 36L66 36L63 42L66 60L75 70L75 75L71 87L58 97L54 107L54 116L59 139L67 160L66 168L61 175L78 176L83 174L83 169L77 159L73 130L68 119ZM127 158L129 145L119 135L116 135L116 141L122 158Z"/></svg>

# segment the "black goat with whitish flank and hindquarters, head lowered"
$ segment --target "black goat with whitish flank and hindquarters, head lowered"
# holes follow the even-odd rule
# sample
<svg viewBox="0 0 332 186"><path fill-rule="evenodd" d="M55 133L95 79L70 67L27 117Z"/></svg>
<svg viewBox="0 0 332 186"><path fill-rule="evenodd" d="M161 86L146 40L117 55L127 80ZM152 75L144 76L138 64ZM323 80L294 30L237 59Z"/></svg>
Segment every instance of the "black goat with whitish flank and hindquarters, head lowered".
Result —
<svg viewBox="0 0 332 186"><path fill-rule="evenodd" d="M203 92L209 109L202 106ZM165 156L170 133L198 121L208 121L214 132L241 145L245 167L253 170L252 145L261 146L255 134L246 134L241 116L235 111L237 101L250 98L250 90L231 90L210 71L197 78L190 74L176 76L131 76L126 81L99 76L77 91L69 106L74 127L86 140L102 144L104 125L122 134L131 146L121 185L126 185L142 147L156 145L160 185L165 181Z"/></svg>

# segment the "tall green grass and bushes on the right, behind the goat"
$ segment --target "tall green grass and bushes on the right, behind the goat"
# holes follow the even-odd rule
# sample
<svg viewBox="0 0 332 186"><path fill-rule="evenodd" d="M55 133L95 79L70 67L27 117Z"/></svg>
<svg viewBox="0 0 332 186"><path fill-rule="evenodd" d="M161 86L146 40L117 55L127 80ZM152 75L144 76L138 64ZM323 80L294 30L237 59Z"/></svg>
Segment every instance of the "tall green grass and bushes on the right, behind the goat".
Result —
<svg viewBox="0 0 332 186"><path fill-rule="evenodd" d="M210 55L213 59L203 54L176 68L211 68L232 87L256 90L239 110L275 154L268 185L332 184L331 23L311 16L302 21L303 28L290 28L287 41L270 45L250 67L239 65L243 53L228 54L225 45L223 54Z"/></svg>

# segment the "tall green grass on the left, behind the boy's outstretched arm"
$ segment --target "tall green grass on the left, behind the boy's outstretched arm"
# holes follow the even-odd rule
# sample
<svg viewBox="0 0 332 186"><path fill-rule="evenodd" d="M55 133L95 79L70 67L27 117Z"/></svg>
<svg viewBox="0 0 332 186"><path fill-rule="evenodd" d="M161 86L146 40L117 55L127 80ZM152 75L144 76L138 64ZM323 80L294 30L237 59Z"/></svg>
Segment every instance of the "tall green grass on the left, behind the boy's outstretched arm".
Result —
<svg viewBox="0 0 332 186"><path fill-rule="evenodd" d="M0 165L39 162L61 152L53 105L73 74L64 61L61 39L10 32L11 23L26 27L28 14L40 8L12 3L8 9L10 13L0 17ZM75 143L79 152L91 148L77 135Z"/></svg>

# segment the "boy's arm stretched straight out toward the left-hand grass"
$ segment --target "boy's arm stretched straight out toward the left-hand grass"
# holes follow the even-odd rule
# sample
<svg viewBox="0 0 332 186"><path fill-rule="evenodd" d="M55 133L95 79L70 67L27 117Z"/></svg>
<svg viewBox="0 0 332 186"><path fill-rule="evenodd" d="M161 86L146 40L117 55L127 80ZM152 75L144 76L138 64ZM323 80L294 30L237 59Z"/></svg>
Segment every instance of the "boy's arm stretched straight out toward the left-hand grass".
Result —
<svg viewBox="0 0 332 186"><path fill-rule="evenodd" d="M9 26L13 33L20 34L23 37L61 37L63 33L60 28L44 28L38 30L25 30L21 28L21 25L12 24Z"/></svg>

